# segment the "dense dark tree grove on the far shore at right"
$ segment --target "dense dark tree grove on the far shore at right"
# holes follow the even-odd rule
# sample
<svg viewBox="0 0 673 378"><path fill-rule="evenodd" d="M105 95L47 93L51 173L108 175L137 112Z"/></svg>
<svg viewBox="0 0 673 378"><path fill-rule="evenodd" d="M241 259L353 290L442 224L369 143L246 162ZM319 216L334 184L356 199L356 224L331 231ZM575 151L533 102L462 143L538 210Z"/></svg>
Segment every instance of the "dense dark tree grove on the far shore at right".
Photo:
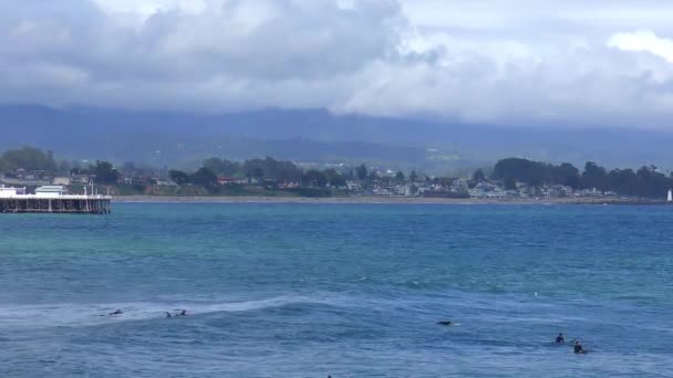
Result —
<svg viewBox="0 0 673 378"><path fill-rule="evenodd" d="M673 174L666 176L655 166L643 166L638 170L608 170L593 161L580 171L573 165L552 165L520 158L499 160L491 178L506 182L524 182L538 187L543 183L563 185L573 189L597 189L613 191L622 196L661 198L673 188Z"/></svg>

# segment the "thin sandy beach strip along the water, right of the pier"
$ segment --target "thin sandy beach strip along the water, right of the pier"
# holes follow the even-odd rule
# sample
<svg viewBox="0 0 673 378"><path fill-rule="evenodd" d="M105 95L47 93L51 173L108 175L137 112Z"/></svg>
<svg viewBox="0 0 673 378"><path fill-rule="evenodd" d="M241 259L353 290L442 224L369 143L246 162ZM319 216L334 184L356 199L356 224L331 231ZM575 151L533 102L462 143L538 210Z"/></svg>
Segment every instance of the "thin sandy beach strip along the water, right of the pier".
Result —
<svg viewBox="0 0 673 378"><path fill-rule="evenodd" d="M410 198L410 197L175 197L175 196L118 196L113 203L333 203L333 204L649 204L665 206L664 200L621 198L545 198L545 199L472 199L472 198Z"/></svg>

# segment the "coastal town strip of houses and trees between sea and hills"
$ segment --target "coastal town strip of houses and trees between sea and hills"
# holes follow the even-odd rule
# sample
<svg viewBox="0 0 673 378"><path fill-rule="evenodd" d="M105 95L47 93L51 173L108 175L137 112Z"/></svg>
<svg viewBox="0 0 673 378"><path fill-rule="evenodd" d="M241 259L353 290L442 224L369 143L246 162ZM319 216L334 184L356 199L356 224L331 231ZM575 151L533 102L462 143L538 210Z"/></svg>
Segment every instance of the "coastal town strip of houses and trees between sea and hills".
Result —
<svg viewBox="0 0 673 378"><path fill-rule="evenodd" d="M211 158L205 160L204 166L196 171L186 172L166 168L137 168L133 164L117 168L107 161L89 162L89 165L84 161L76 166L66 162L56 165L51 153L44 154L37 149L29 153L37 156L33 160L44 160L46 165L39 167L40 165L33 160L8 164L7 160L10 159L6 158L4 169L0 171L0 185L3 188L0 197L7 197L10 192L14 196L17 193L44 196L45 191L51 190L62 195L104 195L105 197L266 196L491 201L542 199L671 201L671 186L673 186L673 176L666 176L655 167L643 167L638 171L630 169L607 171L596 164L588 162L584 171L580 174L579 169L569 164L553 166L514 158L498 161L489 175L483 169L476 169L468 177L438 177L420 174L416 170L405 174L402 170L383 167L366 167L364 164L359 166L335 164L320 169L317 166L302 166L270 157L246 161ZM645 190L650 190L652 195Z"/></svg>

